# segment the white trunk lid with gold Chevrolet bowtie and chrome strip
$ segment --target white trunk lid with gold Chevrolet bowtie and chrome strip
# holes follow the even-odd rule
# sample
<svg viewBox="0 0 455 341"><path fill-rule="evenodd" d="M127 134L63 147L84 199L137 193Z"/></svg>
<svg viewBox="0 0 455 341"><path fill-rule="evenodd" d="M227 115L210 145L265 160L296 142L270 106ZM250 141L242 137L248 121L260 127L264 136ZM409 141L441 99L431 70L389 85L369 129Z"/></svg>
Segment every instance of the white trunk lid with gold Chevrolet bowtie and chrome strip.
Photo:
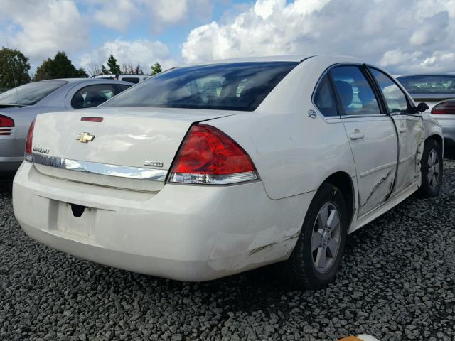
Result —
<svg viewBox="0 0 455 341"><path fill-rule="evenodd" d="M33 163L58 178L157 191L191 124L231 114L135 107L41 114L33 131Z"/></svg>

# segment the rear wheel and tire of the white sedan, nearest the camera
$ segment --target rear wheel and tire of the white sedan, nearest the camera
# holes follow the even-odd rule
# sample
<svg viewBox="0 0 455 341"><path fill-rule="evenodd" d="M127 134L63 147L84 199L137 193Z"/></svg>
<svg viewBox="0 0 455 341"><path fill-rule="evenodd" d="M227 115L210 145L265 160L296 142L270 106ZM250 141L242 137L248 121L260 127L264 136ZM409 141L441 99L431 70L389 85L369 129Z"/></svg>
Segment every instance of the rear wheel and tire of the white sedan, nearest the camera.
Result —
<svg viewBox="0 0 455 341"><path fill-rule="evenodd" d="M331 216L332 211L336 211L333 214L338 213L339 224L336 228L335 222L331 220L331 232L326 229L326 232L321 234L319 233L320 222L323 220L319 220L319 217L325 216L324 207L328 209L328 217ZM347 232L348 220L343 195L336 185L323 183L311 201L299 239L287 260L287 273L291 284L297 288L313 290L331 283L336 277L343 258ZM338 249L332 252L333 241L337 239ZM331 247L328 247L329 244ZM318 246L317 249L314 249L316 246ZM314 251L311 251L312 249ZM325 266L323 266L324 255L326 256Z"/></svg>

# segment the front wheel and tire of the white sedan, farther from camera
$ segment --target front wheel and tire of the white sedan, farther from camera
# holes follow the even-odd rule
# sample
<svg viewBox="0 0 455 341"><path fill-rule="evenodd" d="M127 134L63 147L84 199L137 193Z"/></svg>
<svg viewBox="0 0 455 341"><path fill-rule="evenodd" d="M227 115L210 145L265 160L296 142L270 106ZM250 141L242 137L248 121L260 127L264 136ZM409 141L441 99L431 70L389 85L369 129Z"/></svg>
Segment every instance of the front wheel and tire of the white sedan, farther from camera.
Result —
<svg viewBox="0 0 455 341"><path fill-rule="evenodd" d="M422 185L417 191L419 197L434 197L439 194L443 169L442 147L436 140L429 139L425 142L420 161Z"/></svg>

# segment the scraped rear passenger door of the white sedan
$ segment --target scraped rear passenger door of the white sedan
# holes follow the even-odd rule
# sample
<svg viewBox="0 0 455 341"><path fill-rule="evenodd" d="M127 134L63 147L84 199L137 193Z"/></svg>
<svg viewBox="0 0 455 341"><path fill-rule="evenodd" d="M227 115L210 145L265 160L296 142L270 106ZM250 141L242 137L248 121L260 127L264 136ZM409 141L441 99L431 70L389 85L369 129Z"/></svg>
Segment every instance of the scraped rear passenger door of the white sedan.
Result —
<svg viewBox="0 0 455 341"><path fill-rule="evenodd" d="M359 193L358 215L387 200L397 171L397 134L390 116L360 65L330 70L343 123L355 161Z"/></svg>

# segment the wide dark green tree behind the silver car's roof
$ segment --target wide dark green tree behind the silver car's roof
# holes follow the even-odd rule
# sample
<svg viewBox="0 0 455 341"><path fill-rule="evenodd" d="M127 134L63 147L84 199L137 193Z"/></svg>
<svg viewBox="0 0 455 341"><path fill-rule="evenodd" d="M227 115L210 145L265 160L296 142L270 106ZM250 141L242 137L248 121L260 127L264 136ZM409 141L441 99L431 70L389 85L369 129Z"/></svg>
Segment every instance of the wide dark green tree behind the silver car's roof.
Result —
<svg viewBox="0 0 455 341"><path fill-rule="evenodd" d="M58 52L53 59L43 61L36 69L35 80L51 80L54 78L88 77L82 67L76 69L65 52Z"/></svg>

